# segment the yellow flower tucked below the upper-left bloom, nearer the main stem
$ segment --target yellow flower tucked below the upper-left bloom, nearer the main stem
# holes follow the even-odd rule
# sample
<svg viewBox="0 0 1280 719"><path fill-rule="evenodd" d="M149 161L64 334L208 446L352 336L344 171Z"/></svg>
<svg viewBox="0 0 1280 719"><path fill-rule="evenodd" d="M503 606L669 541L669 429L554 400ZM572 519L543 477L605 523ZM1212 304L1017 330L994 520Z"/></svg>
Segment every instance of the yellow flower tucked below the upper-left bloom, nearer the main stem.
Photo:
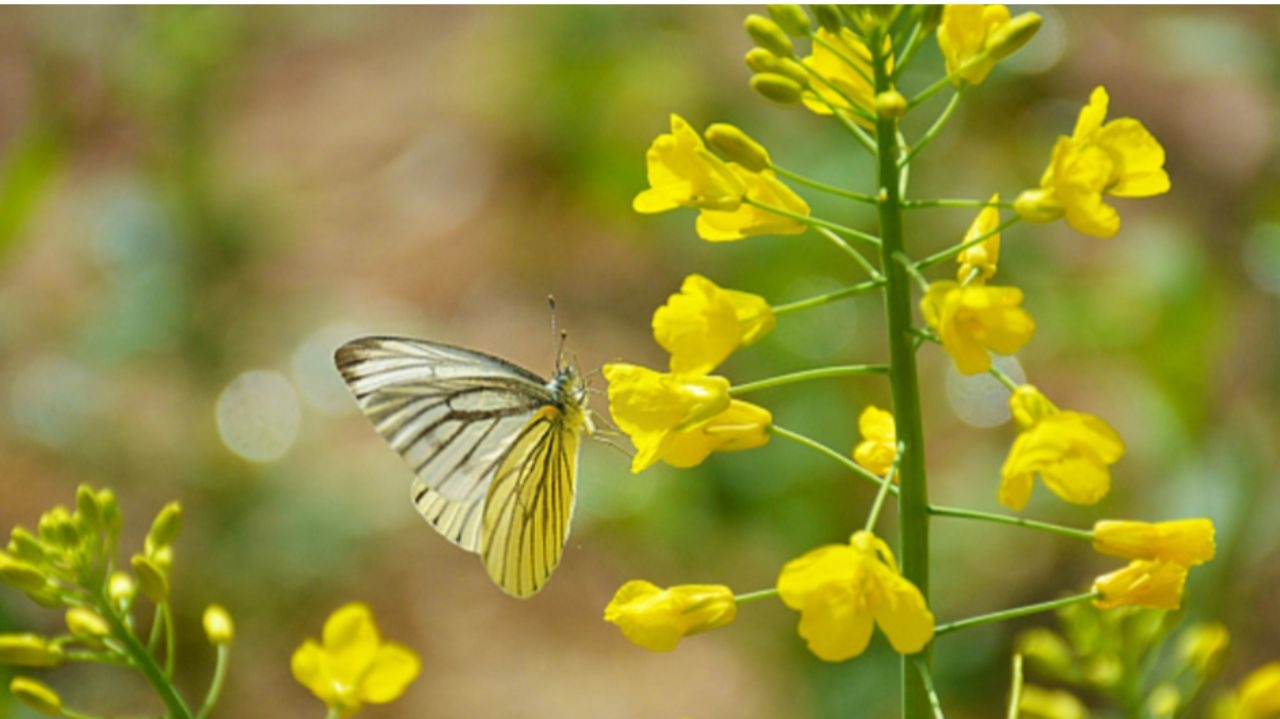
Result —
<svg viewBox="0 0 1280 719"><path fill-rule="evenodd" d="M809 205L782 184L773 170L753 173L732 162L728 168L746 187L746 197L794 215L809 216ZM744 202L735 210L703 207L696 229L698 237L708 242L730 242L759 234L800 234L805 230L805 224Z"/></svg>

